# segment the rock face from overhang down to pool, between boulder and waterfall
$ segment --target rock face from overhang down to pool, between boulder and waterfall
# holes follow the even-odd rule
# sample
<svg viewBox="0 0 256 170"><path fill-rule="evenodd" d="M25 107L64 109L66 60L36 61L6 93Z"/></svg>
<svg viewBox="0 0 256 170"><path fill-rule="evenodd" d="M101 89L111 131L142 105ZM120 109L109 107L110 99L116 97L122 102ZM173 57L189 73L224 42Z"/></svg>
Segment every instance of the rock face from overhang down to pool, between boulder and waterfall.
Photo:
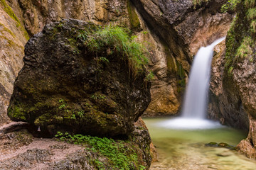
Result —
<svg viewBox="0 0 256 170"><path fill-rule="evenodd" d="M152 34L164 45L165 61L155 63L156 79L147 115L176 114L181 106L186 77L199 47L223 37L233 15L220 13L226 1L133 1ZM160 60L159 60L160 61Z"/></svg>

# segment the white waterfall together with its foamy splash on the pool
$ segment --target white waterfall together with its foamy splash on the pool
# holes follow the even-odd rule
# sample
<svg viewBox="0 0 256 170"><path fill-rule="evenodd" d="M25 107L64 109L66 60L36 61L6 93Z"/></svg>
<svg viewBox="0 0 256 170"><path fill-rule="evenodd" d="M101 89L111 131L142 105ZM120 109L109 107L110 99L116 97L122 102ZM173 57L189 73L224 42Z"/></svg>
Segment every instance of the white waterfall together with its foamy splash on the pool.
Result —
<svg viewBox="0 0 256 170"><path fill-rule="evenodd" d="M206 120L206 105L213 48L224 39L215 40L211 45L198 50L191 67L181 117L161 123L161 126L174 129L209 129L220 126L219 123Z"/></svg>

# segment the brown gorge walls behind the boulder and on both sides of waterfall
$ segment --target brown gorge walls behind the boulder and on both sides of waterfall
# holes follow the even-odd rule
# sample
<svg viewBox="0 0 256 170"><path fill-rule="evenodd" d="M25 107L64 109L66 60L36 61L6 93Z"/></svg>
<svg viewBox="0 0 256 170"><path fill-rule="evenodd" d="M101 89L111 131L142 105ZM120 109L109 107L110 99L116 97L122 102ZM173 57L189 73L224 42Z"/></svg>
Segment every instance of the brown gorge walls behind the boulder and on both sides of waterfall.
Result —
<svg viewBox="0 0 256 170"><path fill-rule="evenodd" d="M233 13L220 8L227 0L1 0L0 125L9 123L6 109L14 81L23 67L29 36L62 18L132 30L149 48L154 73L151 103L144 115L177 114L193 56L199 47L226 35ZM209 117L249 129L240 152L255 156L255 2L240 1L224 42L215 48L210 82Z"/></svg>

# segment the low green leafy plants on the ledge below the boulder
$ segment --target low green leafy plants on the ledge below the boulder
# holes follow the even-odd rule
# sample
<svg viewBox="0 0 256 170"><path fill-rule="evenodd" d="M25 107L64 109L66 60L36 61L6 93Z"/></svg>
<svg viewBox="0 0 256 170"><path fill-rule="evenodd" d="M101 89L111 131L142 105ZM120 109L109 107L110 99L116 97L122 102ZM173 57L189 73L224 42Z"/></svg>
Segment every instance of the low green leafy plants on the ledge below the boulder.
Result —
<svg viewBox="0 0 256 170"><path fill-rule="evenodd" d="M61 141L84 145L87 147L86 150L107 157L109 159L107 163L111 164L113 169L134 169L134 166L139 166L139 169L145 169L144 166L138 165L138 157L134 153L134 149L127 147L124 141L115 141L107 137L92 137L90 135L69 135L68 132L57 132L55 137ZM92 163L97 166L97 169L105 169L104 164L98 159L92 160Z"/></svg>

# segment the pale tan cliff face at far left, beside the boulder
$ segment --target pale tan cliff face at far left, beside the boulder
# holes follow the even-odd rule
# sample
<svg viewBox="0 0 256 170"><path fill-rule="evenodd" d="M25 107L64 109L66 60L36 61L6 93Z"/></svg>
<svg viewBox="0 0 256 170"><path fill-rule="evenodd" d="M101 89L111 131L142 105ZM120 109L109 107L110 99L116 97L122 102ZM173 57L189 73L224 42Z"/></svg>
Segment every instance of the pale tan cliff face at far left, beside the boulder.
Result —
<svg viewBox="0 0 256 170"><path fill-rule="evenodd" d="M9 123L6 109L13 91L14 80L23 66L24 45L28 35L18 18L21 11L14 11L17 3L0 1L0 125ZM17 15L17 16L16 16Z"/></svg>

